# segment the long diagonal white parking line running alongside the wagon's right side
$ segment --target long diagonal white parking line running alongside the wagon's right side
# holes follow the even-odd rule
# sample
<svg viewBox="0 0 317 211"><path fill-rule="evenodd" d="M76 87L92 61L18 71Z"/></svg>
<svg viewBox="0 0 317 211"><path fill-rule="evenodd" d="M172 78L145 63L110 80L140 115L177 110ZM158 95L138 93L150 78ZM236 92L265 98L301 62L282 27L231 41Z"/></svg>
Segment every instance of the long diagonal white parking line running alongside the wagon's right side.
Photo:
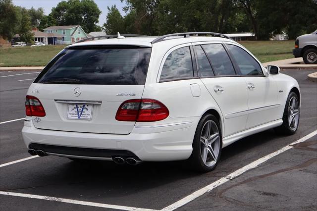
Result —
<svg viewBox="0 0 317 211"><path fill-rule="evenodd" d="M240 176L241 174L243 174L244 172L250 170L250 169L253 169L253 168L256 168L258 167L261 163L264 163L265 161L267 161L268 159L270 158L273 158L289 149L292 149L293 148L293 145L295 144L298 144L298 143L301 143L301 142L304 142L310 138L312 138L313 136L316 136L317 135L317 130L315 130L314 132L308 134L307 136L304 136L303 138L283 147L282 149L280 150L277 150L267 156L264 156L260 159L257 159L256 161L253 161L251 162L250 164L246 165L246 166L243 166L242 168L239 168L238 170L234 171L233 173L225 176L225 177L222 177L221 179L218 179L217 181L203 187L202 189L198 190L198 191L195 191L194 193L184 197L183 199L169 205L168 207L165 207L162 209L162 211L173 211L173 210L176 210L186 204L188 204L189 202L197 199L198 197L204 195L205 193L207 192L210 192L211 190L213 190L214 188L234 179L235 177L237 176Z"/></svg>

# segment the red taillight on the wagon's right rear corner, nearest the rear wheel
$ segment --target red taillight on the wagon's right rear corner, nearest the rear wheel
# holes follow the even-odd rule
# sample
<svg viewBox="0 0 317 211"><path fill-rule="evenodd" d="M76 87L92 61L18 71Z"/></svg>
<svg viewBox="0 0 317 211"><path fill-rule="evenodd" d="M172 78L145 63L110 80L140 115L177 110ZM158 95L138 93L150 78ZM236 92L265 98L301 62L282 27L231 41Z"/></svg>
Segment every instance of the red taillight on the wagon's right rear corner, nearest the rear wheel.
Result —
<svg viewBox="0 0 317 211"><path fill-rule="evenodd" d="M121 104L115 119L118 121L152 122L165 119L169 111L164 104L153 99L134 99Z"/></svg>

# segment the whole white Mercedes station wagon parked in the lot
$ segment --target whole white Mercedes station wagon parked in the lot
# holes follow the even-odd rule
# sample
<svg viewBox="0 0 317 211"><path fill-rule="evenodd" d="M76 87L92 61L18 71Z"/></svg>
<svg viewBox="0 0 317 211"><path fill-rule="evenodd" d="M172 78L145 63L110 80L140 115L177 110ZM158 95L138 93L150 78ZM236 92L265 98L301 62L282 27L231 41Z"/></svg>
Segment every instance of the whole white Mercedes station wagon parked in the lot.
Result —
<svg viewBox="0 0 317 211"><path fill-rule="evenodd" d="M222 34L118 33L58 53L31 84L25 107L31 155L187 160L206 172L243 137L270 128L294 134L300 90Z"/></svg>

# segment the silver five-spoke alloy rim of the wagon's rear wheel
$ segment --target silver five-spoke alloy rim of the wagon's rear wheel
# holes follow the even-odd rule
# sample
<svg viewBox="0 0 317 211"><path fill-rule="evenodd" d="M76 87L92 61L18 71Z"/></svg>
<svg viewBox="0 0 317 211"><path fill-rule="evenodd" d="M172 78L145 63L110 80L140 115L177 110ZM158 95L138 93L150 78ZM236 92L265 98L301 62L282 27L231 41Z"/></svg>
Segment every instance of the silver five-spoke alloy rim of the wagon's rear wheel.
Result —
<svg viewBox="0 0 317 211"><path fill-rule="evenodd" d="M205 165L212 166L216 163L220 152L220 136L216 123L208 120L200 136L201 158Z"/></svg>

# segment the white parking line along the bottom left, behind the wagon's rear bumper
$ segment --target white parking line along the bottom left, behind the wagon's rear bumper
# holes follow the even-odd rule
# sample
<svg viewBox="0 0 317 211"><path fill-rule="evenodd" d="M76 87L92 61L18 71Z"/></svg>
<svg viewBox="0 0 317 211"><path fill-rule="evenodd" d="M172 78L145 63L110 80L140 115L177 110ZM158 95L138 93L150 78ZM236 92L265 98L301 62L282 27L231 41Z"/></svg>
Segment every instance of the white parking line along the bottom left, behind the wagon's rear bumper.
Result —
<svg viewBox="0 0 317 211"><path fill-rule="evenodd" d="M31 199L42 199L42 200L48 200L48 201L64 202L64 203L69 203L69 204L85 205L85 206L108 208L108 209L115 209L115 210L156 211L156 210L151 210L151 209L134 208L134 207L119 206L119 205L108 205L108 204L101 204L101 203L95 203L95 202L86 202L86 201L63 199L63 198L56 198L56 197L50 197L50 196L39 196L39 195L22 194L22 193L5 192L5 191L0 191L0 195L26 197L26 198L31 198Z"/></svg>

